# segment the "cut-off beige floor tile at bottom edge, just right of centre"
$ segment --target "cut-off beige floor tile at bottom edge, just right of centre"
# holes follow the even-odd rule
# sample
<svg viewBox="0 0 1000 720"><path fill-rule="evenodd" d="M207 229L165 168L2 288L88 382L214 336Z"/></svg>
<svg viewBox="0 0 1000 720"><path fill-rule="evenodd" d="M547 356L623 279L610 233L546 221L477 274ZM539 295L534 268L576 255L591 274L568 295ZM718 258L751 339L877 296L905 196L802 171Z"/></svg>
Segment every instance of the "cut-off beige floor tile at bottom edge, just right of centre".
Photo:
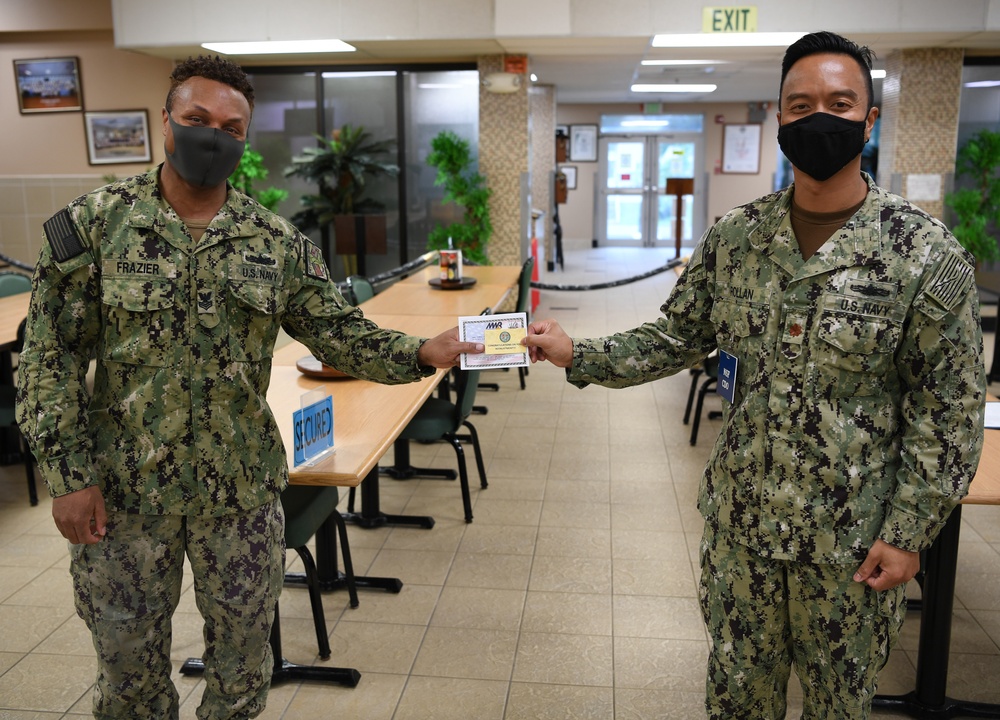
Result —
<svg viewBox="0 0 1000 720"><path fill-rule="evenodd" d="M607 687L511 683L504 720L610 720L614 692Z"/></svg>

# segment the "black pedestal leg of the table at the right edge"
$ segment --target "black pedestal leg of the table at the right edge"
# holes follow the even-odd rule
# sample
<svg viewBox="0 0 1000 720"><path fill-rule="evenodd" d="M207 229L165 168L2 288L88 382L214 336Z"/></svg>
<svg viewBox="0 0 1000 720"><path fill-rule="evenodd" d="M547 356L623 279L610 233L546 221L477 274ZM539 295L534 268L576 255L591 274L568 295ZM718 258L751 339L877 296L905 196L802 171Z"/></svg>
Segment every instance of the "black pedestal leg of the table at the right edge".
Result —
<svg viewBox="0 0 1000 720"><path fill-rule="evenodd" d="M959 505L927 551L916 687L903 695L876 695L873 707L893 710L921 720L1000 718L1000 705L954 700L945 695L961 525L962 506Z"/></svg>

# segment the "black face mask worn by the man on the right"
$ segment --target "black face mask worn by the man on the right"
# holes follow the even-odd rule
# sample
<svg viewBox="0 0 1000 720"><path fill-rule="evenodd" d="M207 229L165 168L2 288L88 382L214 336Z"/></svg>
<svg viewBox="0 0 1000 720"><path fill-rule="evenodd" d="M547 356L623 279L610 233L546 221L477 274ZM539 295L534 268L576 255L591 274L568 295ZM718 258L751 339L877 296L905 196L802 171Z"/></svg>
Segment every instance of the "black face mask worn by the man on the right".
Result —
<svg viewBox="0 0 1000 720"><path fill-rule="evenodd" d="M829 180L865 147L864 120L813 113L778 128L778 146L811 178Z"/></svg>

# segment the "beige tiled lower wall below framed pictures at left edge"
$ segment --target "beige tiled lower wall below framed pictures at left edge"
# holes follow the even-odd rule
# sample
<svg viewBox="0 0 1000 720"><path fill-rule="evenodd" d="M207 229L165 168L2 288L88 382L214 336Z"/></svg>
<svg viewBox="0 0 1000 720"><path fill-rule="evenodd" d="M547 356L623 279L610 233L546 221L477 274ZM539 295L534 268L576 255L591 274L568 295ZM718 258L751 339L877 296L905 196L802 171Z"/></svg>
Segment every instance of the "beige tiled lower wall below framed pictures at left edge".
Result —
<svg viewBox="0 0 1000 720"><path fill-rule="evenodd" d="M42 223L73 198L103 184L100 175L0 177L0 252L34 265Z"/></svg>

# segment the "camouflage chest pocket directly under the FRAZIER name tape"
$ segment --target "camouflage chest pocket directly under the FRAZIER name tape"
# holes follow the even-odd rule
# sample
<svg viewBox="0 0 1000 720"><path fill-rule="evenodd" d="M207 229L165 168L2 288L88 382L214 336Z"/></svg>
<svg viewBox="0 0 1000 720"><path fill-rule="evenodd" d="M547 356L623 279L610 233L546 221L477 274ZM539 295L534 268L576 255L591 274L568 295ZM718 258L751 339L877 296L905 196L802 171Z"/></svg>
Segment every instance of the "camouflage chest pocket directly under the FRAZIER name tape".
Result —
<svg viewBox="0 0 1000 720"><path fill-rule="evenodd" d="M174 364L174 290L167 278L105 276L105 359L157 367Z"/></svg>

